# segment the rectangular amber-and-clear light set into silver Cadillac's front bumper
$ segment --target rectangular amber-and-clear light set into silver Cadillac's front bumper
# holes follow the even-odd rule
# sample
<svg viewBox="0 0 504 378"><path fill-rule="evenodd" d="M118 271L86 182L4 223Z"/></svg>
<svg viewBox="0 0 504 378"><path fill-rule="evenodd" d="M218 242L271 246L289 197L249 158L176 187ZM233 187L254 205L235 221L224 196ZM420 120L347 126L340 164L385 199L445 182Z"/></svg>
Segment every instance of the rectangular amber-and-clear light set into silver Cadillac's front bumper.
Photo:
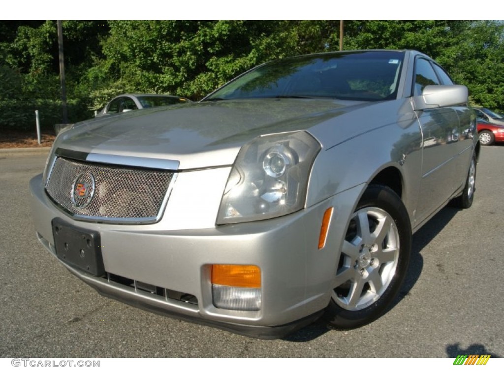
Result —
<svg viewBox="0 0 504 378"><path fill-rule="evenodd" d="M212 265L212 302L217 308L261 309L261 269L255 265Z"/></svg>

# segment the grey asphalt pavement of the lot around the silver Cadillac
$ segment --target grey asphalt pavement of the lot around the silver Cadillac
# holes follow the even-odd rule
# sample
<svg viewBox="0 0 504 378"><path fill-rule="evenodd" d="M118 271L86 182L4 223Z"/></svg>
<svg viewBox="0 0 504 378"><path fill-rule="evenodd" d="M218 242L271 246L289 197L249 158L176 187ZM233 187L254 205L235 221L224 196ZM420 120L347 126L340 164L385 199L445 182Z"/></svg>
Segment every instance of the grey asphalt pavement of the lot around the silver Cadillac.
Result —
<svg viewBox="0 0 504 378"><path fill-rule="evenodd" d="M319 322L280 340L133 308L70 274L30 216L28 182L46 156L0 153L0 357L504 356L504 146L482 148L470 209L445 208L414 235L407 281L382 318L344 332Z"/></svg>

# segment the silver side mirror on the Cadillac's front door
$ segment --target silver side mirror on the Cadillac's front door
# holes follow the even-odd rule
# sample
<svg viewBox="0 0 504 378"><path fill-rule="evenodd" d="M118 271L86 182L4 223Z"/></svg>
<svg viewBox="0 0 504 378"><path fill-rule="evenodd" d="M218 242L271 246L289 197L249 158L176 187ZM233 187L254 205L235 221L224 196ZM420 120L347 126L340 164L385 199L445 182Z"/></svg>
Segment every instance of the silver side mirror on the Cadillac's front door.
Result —
<svg viewBox="0 0 504 378"><path fill-rule="evenodd" d="M427 85L420 96L413 97L414 110L467 104L465 85Z"/></svg>

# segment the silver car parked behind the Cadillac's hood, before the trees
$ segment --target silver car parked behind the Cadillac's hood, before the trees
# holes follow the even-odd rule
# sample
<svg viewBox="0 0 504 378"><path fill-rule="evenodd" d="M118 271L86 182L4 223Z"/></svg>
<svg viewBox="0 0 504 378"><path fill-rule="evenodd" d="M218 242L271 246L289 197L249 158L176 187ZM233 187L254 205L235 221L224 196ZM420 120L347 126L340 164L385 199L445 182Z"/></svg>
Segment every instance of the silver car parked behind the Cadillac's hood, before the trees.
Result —
<svg viewBox="0 0 504 378"><path fill-rule="evenodd" d="M117 114L137 109L152 108L155 106L186 104L192 102L190 99L180 96L158 95L158 94L123 94L114 97L97 117L107 114Z"/></svg>

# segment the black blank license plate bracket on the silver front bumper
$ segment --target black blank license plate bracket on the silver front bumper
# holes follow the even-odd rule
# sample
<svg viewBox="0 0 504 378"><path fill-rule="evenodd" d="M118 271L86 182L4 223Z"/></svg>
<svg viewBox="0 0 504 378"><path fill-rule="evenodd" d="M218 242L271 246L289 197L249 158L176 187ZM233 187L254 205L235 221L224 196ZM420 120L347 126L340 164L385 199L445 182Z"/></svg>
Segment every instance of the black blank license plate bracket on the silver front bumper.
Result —
<svg viewBox="0 0 504 378"><path fill-rule="evenodd" d="M51 225L59 260L96 277L105 274L99 232L73 226L60 218L54 218Z"/></svg>

